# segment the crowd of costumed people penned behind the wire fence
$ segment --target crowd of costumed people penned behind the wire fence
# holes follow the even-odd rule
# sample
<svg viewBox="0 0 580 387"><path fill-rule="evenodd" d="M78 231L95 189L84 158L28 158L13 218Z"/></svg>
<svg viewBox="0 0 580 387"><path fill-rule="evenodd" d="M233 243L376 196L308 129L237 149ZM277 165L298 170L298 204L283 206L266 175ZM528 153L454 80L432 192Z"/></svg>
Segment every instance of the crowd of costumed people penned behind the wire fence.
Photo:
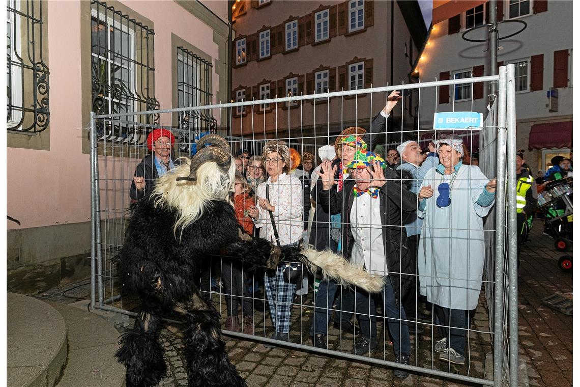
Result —
<svg viewBox="0 0 580 387"><path fill-rule="evenodd" d="M280 140L267 141L261 154L238 150L231 202L245 233L278 246L307 243L319 251L329 249L385 280L380 294L371 295L331 280L318 284L316 273L298 264L266 271L271 339L289 340L296 294L305 295L318 284L310 325L313 346L327 348L334 316L335 328L356 335L353 353L376 348L375 302L380 302L397 363L410 362L409 335L433 326L438 358L465 364L469 311L481 290L483 218L495 202L495 179L484 176L462 139L452 135L434 138L425 151L415 141L371 150L369 144L389 130L387 118L399 99L397 91L389 95L368 131L352 126L320 147L318 165L316 155L300 154ZM137 166L133 202L179 163L171 156L174 142L165 129L150 133L147 143L153 153ZM559 173L565 168L564 163ZM295 280L292 272L302 276ZM226 330L253 334L253 273L224 259L220 274ZM405 378L408 372L397 369L394 374Z"/></svg>

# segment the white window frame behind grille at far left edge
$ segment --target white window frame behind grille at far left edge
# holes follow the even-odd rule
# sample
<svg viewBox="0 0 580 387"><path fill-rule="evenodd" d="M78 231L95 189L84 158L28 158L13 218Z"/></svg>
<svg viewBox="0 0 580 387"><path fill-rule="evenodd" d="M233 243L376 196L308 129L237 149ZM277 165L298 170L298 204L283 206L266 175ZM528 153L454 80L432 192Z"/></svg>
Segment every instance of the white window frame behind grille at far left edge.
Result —
<svg viewBox="0 0 580 387"><path fill-rule="evenodd" d="M14 10L20 10L20 1L10 1L11 6ZM17 59L17 53L21 51L21 37L20 37L20 18L17 13L8 12L8 15L16 16L14 20L8 19L6 17L6 30L12 32L10 35L10 57L12 60ZM16 33L14 33L16 32ZM9 64L10 66L10 64ZM10 91L12 92L12 106L13 107L23 107L22 101L22 67L20 66L10 66L10 77L12 78L12 84L10 85ZM8 66L6 67L6 82L8 82ZM8 100L6 101L8 102ZM10 117L6 122L6 127L9 129L17 129L23 116L22 110L10 110ZM21 125L20 125L21 129Z"/></svg>

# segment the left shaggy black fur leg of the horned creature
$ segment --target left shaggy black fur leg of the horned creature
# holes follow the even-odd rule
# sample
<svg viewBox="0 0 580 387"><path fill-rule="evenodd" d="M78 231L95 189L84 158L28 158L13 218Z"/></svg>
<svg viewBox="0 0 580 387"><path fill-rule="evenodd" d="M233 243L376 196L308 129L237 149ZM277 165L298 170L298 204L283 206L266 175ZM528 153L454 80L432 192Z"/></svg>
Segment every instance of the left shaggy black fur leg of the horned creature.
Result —
<svg viewBox="0 0 580 387"><path fill-rule="evenodd" d="M127 387L153 387L167 372L163 348L159 342L161 317L142 311L131 331L121 335L121 348L115 356L127 368Z"/></svg>

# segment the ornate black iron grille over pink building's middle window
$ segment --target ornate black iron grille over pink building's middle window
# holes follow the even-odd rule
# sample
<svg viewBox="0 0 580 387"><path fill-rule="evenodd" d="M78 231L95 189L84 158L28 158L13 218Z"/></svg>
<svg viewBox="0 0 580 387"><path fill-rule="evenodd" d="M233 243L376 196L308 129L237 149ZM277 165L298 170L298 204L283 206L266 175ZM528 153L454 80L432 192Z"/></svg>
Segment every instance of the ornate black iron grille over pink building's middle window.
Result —
<svg viewBox="0 0 580 387"><path fill-rule="evenodd" d="M154 97L154 37L153 29L104 2L91 1L90 60L92 110L95 113L131 113L159 108ZM97 138L142 144L147 125L138 125L139 120L145 120L142 124L158 125L159 115L136 115L125 122L97 121Z"/></svg>

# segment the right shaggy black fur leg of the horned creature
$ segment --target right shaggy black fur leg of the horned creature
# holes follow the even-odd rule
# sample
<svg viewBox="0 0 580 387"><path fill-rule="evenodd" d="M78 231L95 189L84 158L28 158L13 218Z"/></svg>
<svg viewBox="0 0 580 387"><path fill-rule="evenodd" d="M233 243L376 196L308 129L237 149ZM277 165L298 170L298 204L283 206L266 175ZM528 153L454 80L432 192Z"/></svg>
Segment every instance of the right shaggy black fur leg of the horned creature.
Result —
<svg viewBox="0 0 580 387"><path fill-rule="evenodd" d="M231 364L219 325L219 314L196 291L187 305L185 356L190 387L247 387Z"/></svg>

